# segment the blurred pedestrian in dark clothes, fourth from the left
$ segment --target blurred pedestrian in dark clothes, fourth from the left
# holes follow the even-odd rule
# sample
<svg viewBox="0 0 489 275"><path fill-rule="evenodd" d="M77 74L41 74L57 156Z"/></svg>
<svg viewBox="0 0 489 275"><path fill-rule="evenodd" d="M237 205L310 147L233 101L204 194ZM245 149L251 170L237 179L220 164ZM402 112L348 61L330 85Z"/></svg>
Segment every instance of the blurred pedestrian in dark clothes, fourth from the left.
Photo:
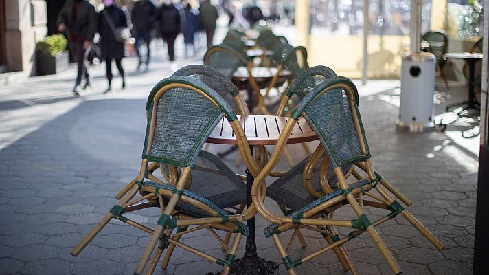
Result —
<svg viewBox="0 0 489 275"><path fill-rule="evenodd" d="M168 46L168 56L170 61L175 60L175 39L180 33L181 18L180 12L170 0L166 0L158 12L159 31L161 37Z"/></svg>

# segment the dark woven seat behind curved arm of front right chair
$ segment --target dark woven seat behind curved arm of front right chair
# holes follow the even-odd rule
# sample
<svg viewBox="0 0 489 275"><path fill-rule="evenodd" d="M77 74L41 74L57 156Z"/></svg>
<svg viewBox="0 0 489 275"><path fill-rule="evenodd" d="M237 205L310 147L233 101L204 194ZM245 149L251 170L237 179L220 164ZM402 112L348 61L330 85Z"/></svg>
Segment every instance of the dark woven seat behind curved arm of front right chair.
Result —
<svg viewBox="0 0 489 275"><path fill-rule="evenodd" d="M266 188L266 196L270 197L277 203L286 206L286 208L297 211L304 208L312 201L317 199L312 196L302 184L302 173L304 171L304 166L308 161L309 157L306 157L289 170L285 175L282 175L279 179L273 182L269 187ZM317 192L321 192L321 185L319 184L319 164L321 161L317 162L316 166L312 170L311 175L311 186ZM345 165L342 167L343 173L346 173L350 169L351 165ZM337 179L334 177L334 172L331 167L328 167L328 183L333 188L337 184Z"/></svg>

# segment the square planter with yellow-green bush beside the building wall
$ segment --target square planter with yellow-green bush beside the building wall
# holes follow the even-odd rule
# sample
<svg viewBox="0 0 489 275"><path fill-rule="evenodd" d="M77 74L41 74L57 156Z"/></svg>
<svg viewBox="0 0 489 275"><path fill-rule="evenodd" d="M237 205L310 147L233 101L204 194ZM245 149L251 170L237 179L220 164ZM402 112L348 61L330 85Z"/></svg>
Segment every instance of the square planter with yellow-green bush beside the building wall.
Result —
<svg viewBox="0 0 489 275"><path fill-rule="evenodd" d="M62 34L47 36L37 43L37 74L56 74L67 69L68 52L65 51L68 41Z"/></svg>

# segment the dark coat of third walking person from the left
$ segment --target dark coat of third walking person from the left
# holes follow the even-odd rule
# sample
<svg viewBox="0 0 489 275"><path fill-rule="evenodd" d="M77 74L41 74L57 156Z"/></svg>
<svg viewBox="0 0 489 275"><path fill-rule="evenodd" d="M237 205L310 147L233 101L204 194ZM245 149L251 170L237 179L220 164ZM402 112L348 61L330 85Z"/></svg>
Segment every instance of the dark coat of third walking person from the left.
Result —
<svg viewBox="0 0 489 275"><path fill-rule="evenodd" d="M155 27L156 8L149 0L136 2L130 15L133 20L133 31L150 32Z"/></svg>

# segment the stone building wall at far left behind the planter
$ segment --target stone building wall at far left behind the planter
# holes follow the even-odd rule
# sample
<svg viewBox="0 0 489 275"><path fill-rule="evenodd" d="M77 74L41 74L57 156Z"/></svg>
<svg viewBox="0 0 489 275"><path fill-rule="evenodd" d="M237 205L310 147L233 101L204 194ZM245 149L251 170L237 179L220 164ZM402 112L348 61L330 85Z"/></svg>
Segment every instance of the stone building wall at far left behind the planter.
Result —
<svg viewBox="0 0 489 275"><path fill-rule="evenodd" d="M47 34L45 0L5 0L5 50L10 72L36 75L36 42Z"/></svg>

